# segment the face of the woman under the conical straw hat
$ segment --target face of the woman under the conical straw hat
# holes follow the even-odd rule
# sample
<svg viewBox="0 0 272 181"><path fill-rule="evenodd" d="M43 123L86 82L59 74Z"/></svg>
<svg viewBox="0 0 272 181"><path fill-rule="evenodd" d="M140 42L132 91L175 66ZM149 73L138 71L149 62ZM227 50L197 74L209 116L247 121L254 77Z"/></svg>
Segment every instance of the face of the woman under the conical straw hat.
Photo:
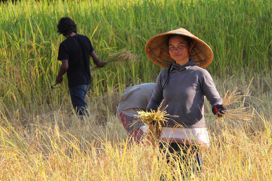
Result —
<svg viewBox="0 0 272 181"><path fill-rule="evenodd" d="M169 40L169 54L176 62L189 60L188 51L188 43L182 36L176 35Z"/></svg>

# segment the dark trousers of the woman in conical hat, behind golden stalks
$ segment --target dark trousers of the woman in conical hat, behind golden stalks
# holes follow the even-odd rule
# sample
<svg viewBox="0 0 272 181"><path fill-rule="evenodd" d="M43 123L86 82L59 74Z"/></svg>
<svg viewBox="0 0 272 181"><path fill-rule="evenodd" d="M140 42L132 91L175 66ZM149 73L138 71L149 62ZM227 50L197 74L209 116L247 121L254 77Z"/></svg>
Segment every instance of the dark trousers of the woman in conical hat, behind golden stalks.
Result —
<svg viewBox="0 0 272 181"><path fill-rule="evenodd" d="M180 163L184 163L184 165L179 165L183 176L190 175L191 173L198 175L198 173L202 170L202 154L199 154L197 146L185 145L177 142L160 142L159 149L161 152L166 153L167 163L169 163L171 160L170 155ZM182 170L185 170L185 173L183 173Z"/></svg>

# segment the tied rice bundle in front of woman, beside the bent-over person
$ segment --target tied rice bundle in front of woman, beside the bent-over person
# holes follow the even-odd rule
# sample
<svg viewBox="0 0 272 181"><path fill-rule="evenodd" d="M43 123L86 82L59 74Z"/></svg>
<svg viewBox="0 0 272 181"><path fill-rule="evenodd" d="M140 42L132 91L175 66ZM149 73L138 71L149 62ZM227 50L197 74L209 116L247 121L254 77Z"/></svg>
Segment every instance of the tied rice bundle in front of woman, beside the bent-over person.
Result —
<svg viewBox="0 0 272 181"><path fill-rule="evenodd" d="M168 105L166 105L166 107L168 107ZM166 112L166 107L164 107L163 110L160 110L158 107L158 110L152 110L151 112L145 112L145 111L138 111L138 115L136 118L138 119L138 121L142 121L145 124L149 125L149 137L155 141L158 140L161 136L161 128L162 125L166 126L166 122L170 119L168 118L170 117L178 117L178 116L171 116L170 114L167 114ZM168 116L168 117L166 117ZM152 121L153 124L152 124ZM136 121L137 122L137 121Z"/></svg>

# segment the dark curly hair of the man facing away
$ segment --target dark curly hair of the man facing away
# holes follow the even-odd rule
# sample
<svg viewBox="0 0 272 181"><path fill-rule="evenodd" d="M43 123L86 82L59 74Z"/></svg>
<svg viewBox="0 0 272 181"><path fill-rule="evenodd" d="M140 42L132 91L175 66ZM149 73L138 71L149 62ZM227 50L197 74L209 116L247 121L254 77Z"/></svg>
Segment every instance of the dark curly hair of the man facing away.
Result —
<svg viewBox="0 0 272 181"><path fill-rule="evenodd" d="M77 33L77 25L75 24L75 22L68 17L61 18L58 22L58 33L66 36L73 32Z"/></svg>

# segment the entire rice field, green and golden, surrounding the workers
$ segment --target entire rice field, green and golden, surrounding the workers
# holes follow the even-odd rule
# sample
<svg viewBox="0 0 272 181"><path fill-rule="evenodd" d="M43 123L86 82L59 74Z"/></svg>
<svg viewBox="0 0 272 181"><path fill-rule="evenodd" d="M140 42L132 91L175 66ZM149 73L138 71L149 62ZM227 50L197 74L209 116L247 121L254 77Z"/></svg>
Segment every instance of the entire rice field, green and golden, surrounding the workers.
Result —
<svg viewBox="0 0 272 181"><path fill-rule="evenodd" d="M271 12L266 0L1 2L0 180L182 180L156 144L127 144L117 109L125 88L155 82L162 69L145 55L147 40L179 27L211 46L205 69L222 97L245 95L228 109L254 113L216 119L205 102L211 145L203 172L185 180L272 180ZM109 61L92 69L88 118L73 112L66 76L50 88L63 16Z"/></svg>

